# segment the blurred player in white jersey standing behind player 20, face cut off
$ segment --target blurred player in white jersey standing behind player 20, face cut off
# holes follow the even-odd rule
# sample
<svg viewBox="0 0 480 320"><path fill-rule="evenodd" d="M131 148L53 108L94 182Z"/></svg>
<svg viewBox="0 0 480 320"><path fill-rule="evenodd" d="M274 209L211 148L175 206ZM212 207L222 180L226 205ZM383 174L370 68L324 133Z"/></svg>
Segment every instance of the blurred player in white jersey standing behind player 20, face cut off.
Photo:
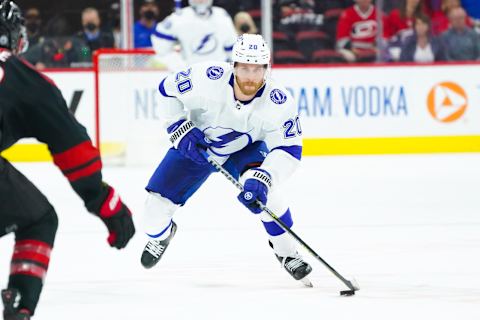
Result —
<svg viewBox="0 0 480 320"><path fill-rule="evenodd" d="M227 61L237 33L228 13L212 6L213 0L189 0L160 22L152 34L152 44L160 60L186 66L201 61ZM175 62L174 47L180 44L184 62Z"/></svg>

